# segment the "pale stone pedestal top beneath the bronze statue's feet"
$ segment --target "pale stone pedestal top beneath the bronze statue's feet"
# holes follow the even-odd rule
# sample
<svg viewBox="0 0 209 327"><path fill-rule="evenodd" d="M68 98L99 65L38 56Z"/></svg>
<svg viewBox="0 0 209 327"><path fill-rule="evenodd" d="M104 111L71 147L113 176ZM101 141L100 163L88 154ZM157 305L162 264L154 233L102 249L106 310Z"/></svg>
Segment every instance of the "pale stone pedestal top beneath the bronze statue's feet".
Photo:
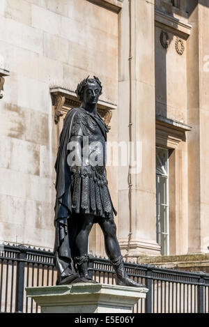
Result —
<svg viewBox="0 0 209 327"><path fill-rule="evenodd" d="M148 289L107 284L79 283L53 287L27 287L42 313L132 313Z"/></svg>

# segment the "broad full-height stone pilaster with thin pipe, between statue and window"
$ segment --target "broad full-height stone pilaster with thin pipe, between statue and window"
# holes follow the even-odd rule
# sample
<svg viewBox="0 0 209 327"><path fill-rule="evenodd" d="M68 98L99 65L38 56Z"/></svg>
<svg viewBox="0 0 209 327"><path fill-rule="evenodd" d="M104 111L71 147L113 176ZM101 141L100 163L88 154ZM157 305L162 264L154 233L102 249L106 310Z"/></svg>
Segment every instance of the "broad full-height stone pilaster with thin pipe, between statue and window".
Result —
<svg viewBox="0 0 209 327"><path fill-rule="evenodd" d="M134 142L130 157L134 155L138 168L119 167L118 240L123 255L135 259L160 254L155 204L155 1L124 0L119 15L118 142Z"/></svg>

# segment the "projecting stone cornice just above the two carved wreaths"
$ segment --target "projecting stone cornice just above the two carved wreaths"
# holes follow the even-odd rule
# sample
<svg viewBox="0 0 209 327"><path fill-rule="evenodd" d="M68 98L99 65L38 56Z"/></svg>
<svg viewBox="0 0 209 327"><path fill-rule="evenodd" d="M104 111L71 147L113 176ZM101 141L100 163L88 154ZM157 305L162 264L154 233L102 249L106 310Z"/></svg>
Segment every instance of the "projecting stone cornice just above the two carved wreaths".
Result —
<svg viewBox="0 0 209 327"><path fill-rule="evenodd" d="M171 33L175 33L185 40L187 40L192 30L191 24L183 20L178 20L166 13L162 13L162 11L157 9L155 9L155 26L160 27L161 29L166 29Z"/></svg>

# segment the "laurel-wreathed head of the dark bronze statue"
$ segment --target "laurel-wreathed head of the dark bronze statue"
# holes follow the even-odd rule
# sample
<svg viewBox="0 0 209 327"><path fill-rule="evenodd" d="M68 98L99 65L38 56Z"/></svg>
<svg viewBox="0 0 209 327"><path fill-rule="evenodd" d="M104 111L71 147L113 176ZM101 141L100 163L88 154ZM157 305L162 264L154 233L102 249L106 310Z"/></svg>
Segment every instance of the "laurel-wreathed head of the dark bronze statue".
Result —
<svg viewBox="0 0 209 327"><path fill-rule="evenodd" d="M95 105L102 94L102 83L98 77L89 76L80 82L75 91L77 97L88 105Z"/></svg>

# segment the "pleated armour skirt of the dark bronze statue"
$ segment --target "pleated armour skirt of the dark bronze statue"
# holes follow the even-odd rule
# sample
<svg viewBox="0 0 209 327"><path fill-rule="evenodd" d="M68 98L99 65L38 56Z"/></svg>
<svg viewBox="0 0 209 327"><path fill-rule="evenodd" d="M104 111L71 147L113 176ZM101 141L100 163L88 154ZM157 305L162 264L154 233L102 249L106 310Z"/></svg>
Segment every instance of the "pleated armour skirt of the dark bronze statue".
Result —
<svg viewBox="0 0 209 327"><path fill-rule="evenodd" d="M114 218L116 210L111 202L104 167L88 166L72 173L72 213Z"/></svg>

